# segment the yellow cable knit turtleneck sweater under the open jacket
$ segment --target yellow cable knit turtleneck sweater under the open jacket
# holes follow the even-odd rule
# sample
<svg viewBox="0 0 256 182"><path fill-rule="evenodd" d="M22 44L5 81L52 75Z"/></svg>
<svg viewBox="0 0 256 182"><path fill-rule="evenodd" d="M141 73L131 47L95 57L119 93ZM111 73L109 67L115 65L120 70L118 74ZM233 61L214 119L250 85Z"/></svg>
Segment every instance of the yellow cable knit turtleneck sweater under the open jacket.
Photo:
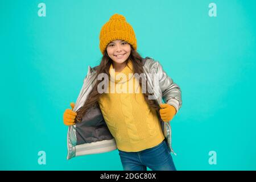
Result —
<svg viewBox="0 0 256 182"><path fill-rule="evenodd" d="M156 111L150 110L138 81L129 77L133 73L131 61L121 72L114 72L111 65L109 73L109 92L102 94L98 103L117 148L138 152L161 143L164 135ZM127 79L118 77L118 73L125 74Z"/></svg>

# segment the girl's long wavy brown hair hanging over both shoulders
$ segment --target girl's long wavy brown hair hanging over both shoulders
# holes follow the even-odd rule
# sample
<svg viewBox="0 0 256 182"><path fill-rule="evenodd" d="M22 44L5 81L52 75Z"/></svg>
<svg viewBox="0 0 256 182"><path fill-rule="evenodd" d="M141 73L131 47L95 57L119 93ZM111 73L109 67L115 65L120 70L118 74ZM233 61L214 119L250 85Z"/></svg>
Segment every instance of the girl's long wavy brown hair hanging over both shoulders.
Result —
<svg viewBox="0 0 256 182"><path fill-rule="evenodd" d="M139 53L137 51L135 51L133 49L132 46L131 46L130 56L128 57L127 60L129 60L129 59L131 60L131 63L133 64L133 72L134 73L138 73L138 75L141 75L141 73L144 73L143 64L142 64L143 58L141 57L141 55L139 55ZM127 63L127 60L126 60L126 63ZM108 76L110 77L109 68L110 68L111 64L112 64L112 59L110 59L107 51L105 50L104 55L102 56L100 65L98 65L98 67L96 67L96 79L100 73L108 74ZM88 95L88 99L85 101L84 106L80 107L80 109L77 111L76 122L82 121L82 117L88 109L98 106L98 100L99 100L101 94L104 94L104 93L99 93L97 90L97 85L100 82L101 82L101 80L96 81L96 84L93 86L92 91ZM139 79L139 85L142 86L141 79ZM159 114L160 106L158 105L158 102L156 102L156 100L148 99L148 96L150 95L150 93L148 93L147 86L146 86L146 93L143 93L143 94L144 94L145 101L150 106L150 109L155 110Z"/></svg>

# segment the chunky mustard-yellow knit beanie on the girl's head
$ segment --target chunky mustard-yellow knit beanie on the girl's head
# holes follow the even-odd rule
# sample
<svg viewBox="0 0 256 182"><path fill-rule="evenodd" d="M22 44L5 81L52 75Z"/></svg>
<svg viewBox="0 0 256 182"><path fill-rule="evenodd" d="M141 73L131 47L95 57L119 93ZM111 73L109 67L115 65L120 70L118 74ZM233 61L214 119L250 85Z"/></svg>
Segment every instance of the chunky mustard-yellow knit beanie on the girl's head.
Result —
<svg viewBox="0 0 256 182"><path fill-rule="evenodd" d="M119 14L111 16L109 21L101 28L100 49L102 55L104 55L106 46L115 39L125 40L127 43L131 44L135 50L137 50L137 40L133 27L126 22L125 16Z"/></svg>

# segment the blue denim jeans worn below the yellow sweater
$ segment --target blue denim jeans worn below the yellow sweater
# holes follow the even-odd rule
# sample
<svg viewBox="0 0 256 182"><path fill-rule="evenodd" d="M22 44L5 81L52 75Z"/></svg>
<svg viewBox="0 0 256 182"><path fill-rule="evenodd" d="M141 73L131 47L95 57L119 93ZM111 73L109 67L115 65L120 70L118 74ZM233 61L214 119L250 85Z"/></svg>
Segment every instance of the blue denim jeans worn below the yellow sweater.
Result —
<svg viewBox="0 0 256 182"><path fill-rule="evenodd" d="M152 171L176 171L165 139L157 146L143 151L118 151L124 171L147 171L147 167Z"/></svg>

